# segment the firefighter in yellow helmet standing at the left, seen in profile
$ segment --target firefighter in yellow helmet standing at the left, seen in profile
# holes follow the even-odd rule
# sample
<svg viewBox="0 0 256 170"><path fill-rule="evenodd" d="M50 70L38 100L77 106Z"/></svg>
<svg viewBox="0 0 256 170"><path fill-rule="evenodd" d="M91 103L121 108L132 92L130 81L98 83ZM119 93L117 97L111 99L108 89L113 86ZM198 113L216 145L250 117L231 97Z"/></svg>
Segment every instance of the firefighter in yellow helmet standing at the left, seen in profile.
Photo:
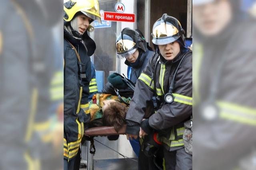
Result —
<svg viewBox="0 0 256 170"><path fill-rule="evenodd" d="M74 168L75 157L90 120L90 56L96 45L88 36L90 23L101 22L97 0L64 1L64 169Z"/></svg>

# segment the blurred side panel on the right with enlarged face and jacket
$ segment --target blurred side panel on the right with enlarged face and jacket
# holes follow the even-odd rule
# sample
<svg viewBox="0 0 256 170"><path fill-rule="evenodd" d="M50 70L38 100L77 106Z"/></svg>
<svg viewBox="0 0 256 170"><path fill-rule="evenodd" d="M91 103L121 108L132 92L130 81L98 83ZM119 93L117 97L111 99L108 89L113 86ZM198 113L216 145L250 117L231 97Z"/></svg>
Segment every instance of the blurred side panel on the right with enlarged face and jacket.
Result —
<svg viewBox="0 0 256 170"><path fill-rule="evenodd" d="M193 168L256 169L255 0L193 0Z"/></svg>

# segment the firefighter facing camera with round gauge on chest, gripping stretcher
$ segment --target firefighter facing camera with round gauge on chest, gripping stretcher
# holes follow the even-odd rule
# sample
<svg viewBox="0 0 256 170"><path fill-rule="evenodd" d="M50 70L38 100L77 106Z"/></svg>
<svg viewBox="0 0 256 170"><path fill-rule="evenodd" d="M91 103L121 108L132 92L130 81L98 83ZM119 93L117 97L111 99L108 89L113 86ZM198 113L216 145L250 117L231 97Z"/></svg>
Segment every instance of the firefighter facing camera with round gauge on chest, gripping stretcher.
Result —
<svg viewBox="0 0 256 170"><path fill-rule="evenodd" d="M180 22L163 14L153 25L156 53L136 82L126 114L129 139L158 132L165 168L192 170L192 155L185 152L184 122L192 115L192 52L185 46ZM143 120L148 101L156 94L158 110Z"/></svg>

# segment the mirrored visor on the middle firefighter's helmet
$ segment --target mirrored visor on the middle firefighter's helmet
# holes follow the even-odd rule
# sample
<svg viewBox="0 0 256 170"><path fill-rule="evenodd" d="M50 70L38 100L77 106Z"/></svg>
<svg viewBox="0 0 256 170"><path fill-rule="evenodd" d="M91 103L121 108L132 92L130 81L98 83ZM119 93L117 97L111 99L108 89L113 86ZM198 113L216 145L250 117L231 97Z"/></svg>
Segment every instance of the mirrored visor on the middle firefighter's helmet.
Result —
<svg viewBox="0 0 256 170"><path fill-rule="evenodd" d="M131 41L129 39L120 39L116 43L116 52L119 55L127 53L127 52L131 51L135 45L136 45L136 43L134 43L133 41Z"/></svg>

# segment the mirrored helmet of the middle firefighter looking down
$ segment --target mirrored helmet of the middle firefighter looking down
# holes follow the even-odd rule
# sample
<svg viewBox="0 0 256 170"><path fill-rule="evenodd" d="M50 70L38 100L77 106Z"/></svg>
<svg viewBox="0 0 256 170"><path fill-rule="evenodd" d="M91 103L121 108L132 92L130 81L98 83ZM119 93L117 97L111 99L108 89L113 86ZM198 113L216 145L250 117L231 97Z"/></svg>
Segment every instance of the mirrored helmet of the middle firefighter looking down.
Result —
<svg viewBox="0 0 256 170"><path fill-rule="evenodd" d="M116 39L116 54L118 57L128 57L136 49L146 51L146 40L138 31L124 28Z"/></svg>

